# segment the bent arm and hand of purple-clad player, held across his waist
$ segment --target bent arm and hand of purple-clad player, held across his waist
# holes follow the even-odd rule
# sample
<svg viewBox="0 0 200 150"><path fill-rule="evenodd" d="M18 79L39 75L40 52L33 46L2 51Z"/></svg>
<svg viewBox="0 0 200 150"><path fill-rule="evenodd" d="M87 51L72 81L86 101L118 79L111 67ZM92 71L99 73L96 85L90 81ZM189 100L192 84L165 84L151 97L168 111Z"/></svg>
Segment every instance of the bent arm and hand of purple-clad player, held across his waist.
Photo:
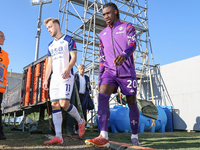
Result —
<svg viewBox="0 0 200 150"><path fill-rule="evenodd" d="M136 32L135 28L132 26L131 23L127 25L126 28L126 34L127 34L127 49L123 50L120 55L118 55L113 61L115 63L115 66L121 66L126 59L128 59L133 52L136 49Z"/></svg>

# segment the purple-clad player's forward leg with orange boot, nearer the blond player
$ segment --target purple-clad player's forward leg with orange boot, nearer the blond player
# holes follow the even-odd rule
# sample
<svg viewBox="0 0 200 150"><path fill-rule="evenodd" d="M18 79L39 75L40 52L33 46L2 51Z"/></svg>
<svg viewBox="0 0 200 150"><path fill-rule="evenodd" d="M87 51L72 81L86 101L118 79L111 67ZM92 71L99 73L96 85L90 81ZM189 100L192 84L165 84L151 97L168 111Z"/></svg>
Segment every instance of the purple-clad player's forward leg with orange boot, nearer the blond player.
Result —
<svg viewBox="0 0 200 150"><path fill-rule="evenodd" d="M110 117L109 99L110 95L116 91L117 84L115 78L109 74L104 74L98 97L98 122L100 135L94 139L86 139L85 143L95 147L109 147L108 119Z"/></svg>

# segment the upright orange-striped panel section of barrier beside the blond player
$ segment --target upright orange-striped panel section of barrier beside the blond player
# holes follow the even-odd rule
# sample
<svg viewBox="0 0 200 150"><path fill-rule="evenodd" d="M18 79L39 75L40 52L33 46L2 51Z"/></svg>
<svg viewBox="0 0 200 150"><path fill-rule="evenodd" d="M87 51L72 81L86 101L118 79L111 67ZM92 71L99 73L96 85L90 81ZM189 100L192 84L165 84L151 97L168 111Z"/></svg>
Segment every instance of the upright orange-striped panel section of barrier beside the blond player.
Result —
<svg viewBox="0 0 200 150"><path fill-rule="evenodd" d="M42 88L44 83L47 56L29 64L23 69L21 107L37 105L49 101L48 91Z"/></svg>

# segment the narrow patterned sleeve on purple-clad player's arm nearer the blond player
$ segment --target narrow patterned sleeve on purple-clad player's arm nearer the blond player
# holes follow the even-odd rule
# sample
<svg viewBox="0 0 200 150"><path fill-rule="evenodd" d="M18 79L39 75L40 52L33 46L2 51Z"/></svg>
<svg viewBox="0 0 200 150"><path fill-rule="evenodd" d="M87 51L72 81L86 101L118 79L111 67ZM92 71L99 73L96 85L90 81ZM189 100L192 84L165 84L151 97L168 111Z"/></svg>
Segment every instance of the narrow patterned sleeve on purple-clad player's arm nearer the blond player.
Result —
<svg viewBox="0 0 200 150"><path fill-rule="evenodd" d="M104 55L104 46L103 43L101 41L101 39L99 39L99 54L100 54L100 60L99 60L99 82L101 80L101 76L104 72L104 62L105 62L105 55Z"/></svg>

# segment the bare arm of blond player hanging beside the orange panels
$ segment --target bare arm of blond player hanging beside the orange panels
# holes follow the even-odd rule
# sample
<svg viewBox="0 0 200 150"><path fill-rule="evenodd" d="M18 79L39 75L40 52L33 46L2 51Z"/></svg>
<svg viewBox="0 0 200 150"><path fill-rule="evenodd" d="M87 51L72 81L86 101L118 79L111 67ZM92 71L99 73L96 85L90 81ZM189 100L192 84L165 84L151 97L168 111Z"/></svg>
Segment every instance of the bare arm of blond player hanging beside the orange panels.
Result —
<svg viewBox="0 0 200 150"><path fill-rule="evenodd" d="M46 65L46 71L45 71L45 77L44 77L44 83L43 83L43 88L44 90L48 90L48 79L49 76L52 72L52 57L48 57L48 62Z"/></svg>

